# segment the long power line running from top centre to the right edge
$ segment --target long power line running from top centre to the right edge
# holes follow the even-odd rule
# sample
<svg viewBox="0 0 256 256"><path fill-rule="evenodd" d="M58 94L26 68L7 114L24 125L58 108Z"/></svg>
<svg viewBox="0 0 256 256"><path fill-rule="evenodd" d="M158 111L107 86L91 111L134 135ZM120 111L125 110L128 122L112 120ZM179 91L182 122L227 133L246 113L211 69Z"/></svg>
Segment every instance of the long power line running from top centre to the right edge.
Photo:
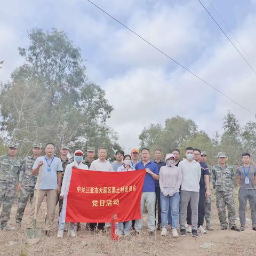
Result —
<svg viewBox="0 0 256 256"><path fill-rule="evenodd" d="M188 68L186 68L185 66L183 66L181 63L179 63L178 61L174 60L173 58L171 58L169 55L167 55L166 53L164 53L162 50L160 50L159 48L157 48L155 45L151 44L149 41L147 41L145 38L143 38L142 36L140 36L139 34L135 33L131 28L127 27L126 25L124 25L121 21L117 20L115 17L113 17L112 15L110 15L108 12L106 12L105 10L103 10L101 7L99 7L98 5L94 4L92 1L87 0L87 2L91 3L92 5L94 5L95 7L97 7L100 11L102 11L103 13L107 14L111 19L115 20L117 23L119 23L120 25L122 25L123 27L125 27L126 29L128 29L129 31L131 31L131 33L133 33L134 35L138 36L140 39L142 39L144 42L146 42L147 44L149 44L150 46L152 46L155 50L157 50L158 52L161 52L163 55L165 55L167 58L169 58L170 60L172 60L173 62L175 62L177 65L179 65L180 67L182 67L183 69L185 69L186 71L188 71L191 75L197 77L199 80L201 80L202 82L204 82L205 84L209 85L210 87L212 87L212 89L214 89L215 91L221 93L224 97L226 97L227 99L233 101L234 103L236 103L236 105L238 105L239 107L243 108L244 110L248 111L250 114L252 114L253 116L255 116L255 114L245 108L244 106L242 106L240 103L238 103L237 101L233 100L232 98L230 98L227 94L221 92L219 89L217 89L216 87L214 87L213 85L209 84L208 82L206 82L203 78L199 77L198 75L196 75L195 73L193 73L193 71L190 71Z"/></svg>

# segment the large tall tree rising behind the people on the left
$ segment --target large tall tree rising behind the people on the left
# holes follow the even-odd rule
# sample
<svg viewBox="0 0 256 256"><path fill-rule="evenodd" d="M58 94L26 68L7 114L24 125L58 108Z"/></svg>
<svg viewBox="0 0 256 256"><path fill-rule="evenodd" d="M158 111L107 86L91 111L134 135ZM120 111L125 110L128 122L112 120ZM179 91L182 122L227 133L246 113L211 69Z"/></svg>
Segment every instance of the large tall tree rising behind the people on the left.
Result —
<svg viewBox="0 0 256 256"><path fill-rule="evenodd" d="M57 29L35 28L28 38L29 46L19 47L26 63L2 86L2 130L20 142L23 155L34 141L104 146L112 154L117 134L106 121L114 108L105 91L87 79L80 49Z"/></svg>

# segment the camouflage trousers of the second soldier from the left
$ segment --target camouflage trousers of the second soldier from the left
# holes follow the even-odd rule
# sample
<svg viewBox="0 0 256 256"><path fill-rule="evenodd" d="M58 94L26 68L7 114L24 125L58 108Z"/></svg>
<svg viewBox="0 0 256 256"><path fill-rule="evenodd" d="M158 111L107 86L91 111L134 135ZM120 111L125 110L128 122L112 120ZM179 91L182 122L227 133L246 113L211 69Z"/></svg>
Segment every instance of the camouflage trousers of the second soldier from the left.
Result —
<svg viewBox="0 0 256 256"><path fill-rule="evenodd" d="M30 205L32 205L34 197L34 187L22 186L20 190L19 205L15 220L17 223L21 223L28 199L30 198Z"/></svg>

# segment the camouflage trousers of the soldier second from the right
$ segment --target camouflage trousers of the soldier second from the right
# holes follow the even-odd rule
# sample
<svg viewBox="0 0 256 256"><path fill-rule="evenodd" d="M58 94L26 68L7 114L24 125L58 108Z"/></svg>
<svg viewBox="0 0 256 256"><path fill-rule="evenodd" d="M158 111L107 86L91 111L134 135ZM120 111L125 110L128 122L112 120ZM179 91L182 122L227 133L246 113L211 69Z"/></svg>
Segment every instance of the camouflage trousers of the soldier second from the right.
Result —
<svg viewBox="0 0 256 256"><path fill-rule="evenodd" d="M226 216L226 205L228 209L228 222ZM222 192L216 191L216 206L218 209L219 219L221 225L233 227L236 219L236 209L233 191Z"/></svg>

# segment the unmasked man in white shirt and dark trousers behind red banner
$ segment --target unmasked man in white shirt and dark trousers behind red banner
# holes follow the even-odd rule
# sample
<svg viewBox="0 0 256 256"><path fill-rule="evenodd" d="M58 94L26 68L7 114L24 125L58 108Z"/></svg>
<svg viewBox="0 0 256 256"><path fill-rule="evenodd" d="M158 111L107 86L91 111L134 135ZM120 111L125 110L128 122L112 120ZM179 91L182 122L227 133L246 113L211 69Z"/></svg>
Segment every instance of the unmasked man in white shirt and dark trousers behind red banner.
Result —
<svg viewBox="0 0 256 256"><path fill-rule="evenodd" d="M91 171L101 171L101 172L114 172L112 165L110 162L106 160L107 158L107 149L99 148L98 149L98 159L94 160L91 163L90 170ZM94 234L97 223L90 223L90 231ZM98 231L105 230L105 223L98 223Z"/></svg>

